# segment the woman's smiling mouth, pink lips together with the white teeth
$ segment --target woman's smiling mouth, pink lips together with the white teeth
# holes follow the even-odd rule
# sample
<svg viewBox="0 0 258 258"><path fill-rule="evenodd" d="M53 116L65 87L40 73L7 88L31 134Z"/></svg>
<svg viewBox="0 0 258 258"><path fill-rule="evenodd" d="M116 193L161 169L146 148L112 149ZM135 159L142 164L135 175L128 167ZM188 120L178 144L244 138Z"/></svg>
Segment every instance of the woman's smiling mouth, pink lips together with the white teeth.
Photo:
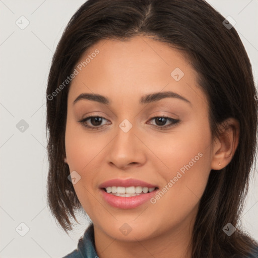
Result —
<svg viewBox="0 0 258 258"><path fill-rule="evenodd" d="M138 179L112 179L99 186L104 201L115 208L137 208L152 197L159 187Z"/></svg>

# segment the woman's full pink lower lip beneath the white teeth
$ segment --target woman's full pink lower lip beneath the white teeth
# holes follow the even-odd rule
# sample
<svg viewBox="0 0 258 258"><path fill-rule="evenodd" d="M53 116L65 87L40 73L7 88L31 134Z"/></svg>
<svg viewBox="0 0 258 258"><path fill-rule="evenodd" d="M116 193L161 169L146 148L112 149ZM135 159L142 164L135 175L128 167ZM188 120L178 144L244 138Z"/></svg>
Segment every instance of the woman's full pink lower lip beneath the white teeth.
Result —
<svg viewBox="0 0 258 258"><path fill-rule="evenodd" d="M139 196L121 197L114 196L111 193L107 193L105 190L101 189L104 200L109 205L120 209L133 209L139 207L140 205L144 204L145 202L149 201L152 197L154 197L157 191L158 189L152 192L142 193Z"/></svg>

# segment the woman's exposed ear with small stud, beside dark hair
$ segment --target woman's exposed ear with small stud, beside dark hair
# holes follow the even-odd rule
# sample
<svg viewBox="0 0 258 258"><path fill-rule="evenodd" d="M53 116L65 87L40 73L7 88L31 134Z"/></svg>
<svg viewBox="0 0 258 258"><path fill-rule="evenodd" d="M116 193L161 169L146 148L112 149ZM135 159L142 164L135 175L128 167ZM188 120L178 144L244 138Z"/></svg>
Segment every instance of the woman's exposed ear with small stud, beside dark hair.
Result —
<svg viewBox="0 0 258 258"><path fill-rule="evenodd" d="M220 135L213 144L211 169L220 170L230 163L239 142L239 133L238 120L231 117L223 121L220 125Z"/></svg>

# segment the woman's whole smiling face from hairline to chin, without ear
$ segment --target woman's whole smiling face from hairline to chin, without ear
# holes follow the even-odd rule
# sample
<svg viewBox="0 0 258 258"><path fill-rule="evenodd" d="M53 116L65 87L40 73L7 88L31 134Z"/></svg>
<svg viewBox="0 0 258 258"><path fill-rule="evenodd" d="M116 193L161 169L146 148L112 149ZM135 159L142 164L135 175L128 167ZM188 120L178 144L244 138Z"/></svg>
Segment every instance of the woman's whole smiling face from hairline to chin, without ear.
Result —
<svg viewBox="0 0 258 258"><path fill-rule="evenodd" d="M95 230L128 241L188 236L213 154L197 73L178 50L140 36L99 41L76 70L66 155Z"/></svg>

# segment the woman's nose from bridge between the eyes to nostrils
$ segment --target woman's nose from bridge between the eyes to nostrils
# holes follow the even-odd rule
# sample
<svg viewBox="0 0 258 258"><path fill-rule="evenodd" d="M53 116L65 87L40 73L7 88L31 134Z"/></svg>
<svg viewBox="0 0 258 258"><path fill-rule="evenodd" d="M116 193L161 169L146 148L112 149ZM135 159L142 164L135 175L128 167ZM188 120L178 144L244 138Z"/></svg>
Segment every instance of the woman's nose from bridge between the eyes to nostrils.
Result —
<svg viewBox="0 0 258 258"><path fill-rule="evenodd" d="M124 123L121 122L117 126L116 137L109 145L108 150L107 158L110 166L126 170L133 166L139 167L145 164L146 146L141 141L139 133L137 133L136 125L132 127L131 125L133 124L125 119Z"/></svg>

